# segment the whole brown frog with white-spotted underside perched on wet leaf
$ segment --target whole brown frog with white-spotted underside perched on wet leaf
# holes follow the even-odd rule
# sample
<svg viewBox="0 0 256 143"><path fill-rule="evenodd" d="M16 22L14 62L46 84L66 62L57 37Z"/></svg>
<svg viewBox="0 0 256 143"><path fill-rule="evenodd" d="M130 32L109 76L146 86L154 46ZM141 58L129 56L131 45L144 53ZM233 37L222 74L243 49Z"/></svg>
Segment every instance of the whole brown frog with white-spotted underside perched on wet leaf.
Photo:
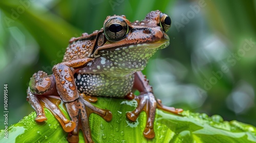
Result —
<svg viewBox="0 0 256 143"><path fill-rule="evenodd" d="M142 74L150 57L169 45L166 32L171 22L170 17L159 10L134 22L125 15L113 15L106 17L100 30L71 38L62 62L53 66L53 73L38 71L30 79L27 101L36 111L35 121L47 120L44 109L47 108L69 133L69 142L79 142L79 130L86 142L93 142L90 114L96 113L106 122L110 122L113 115L110 110L92 103L97 97L125 98L138 103L133 111L126 112L128 120L135 122L145 111L143 135L154 138L157 108L175 114L183 111L164 106L156 99L152 86ZM135 90L139 95L135 96ZM60 110L60 101L65 104L71 120Z"/></svg>

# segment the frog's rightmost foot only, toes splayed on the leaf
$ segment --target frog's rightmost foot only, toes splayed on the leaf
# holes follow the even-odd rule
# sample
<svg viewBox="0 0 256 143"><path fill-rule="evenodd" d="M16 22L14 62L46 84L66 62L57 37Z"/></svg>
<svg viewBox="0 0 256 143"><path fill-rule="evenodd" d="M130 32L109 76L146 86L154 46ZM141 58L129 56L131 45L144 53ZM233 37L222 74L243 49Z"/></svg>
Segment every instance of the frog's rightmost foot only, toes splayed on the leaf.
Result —
<svg viewBox="0 0 256 143"><path fill-rule="evenodd" d="M160 108L165 111L173 112L173 113L179 113L183 111L182 109L175 109L173 107L167 107L162 105L160 101L157 101L155 99L152 92L142 93L140 94L140 96L136 96L135 100L138 102L138 107L132 112L127 112L126 116L131 121L136 121L141 111L145 111L147 115L147 122L146 122L146 127L144 129L143 134L146 138L149 138L149 139L155 137L154 120L155 120L156 108Z"/></svg>

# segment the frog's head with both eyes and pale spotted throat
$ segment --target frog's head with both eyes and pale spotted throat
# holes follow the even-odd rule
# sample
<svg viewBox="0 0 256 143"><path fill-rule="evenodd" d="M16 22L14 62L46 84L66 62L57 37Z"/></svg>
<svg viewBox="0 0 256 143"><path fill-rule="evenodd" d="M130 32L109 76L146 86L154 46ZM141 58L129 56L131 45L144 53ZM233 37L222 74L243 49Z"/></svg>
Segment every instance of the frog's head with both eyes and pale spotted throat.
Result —
<svg viewBox="0 0 256 143"><path fill-rule="evenodd" d="M144 68L148 58L158 49L168 46L166 32L170 24L170 17L159 10L134 22L124 15L108 16L97 34L92 57L104 57L126 67L132 67L134 63L138 68Z"/></svg>

